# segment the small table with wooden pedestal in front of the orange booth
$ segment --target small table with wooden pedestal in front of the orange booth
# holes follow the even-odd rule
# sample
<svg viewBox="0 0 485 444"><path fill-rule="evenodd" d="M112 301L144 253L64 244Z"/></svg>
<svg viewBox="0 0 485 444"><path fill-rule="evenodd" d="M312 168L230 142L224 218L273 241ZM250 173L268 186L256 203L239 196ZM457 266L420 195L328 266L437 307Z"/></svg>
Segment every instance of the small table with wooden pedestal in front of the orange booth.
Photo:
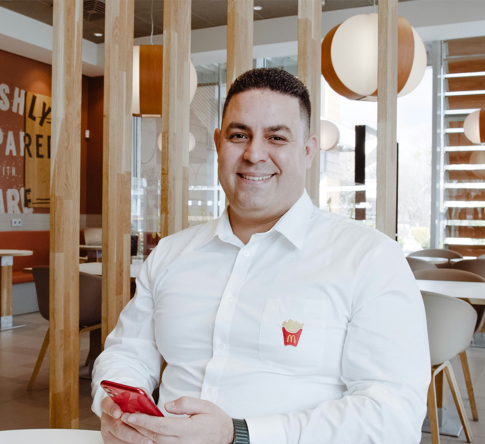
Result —
<svg viewBox="0 0 485 444"><path fill-rule="evenodd" d="M25 327L14 325L12 317L12 266L14 256L32 256L32 250L0 250L0 331Z"/></svg>

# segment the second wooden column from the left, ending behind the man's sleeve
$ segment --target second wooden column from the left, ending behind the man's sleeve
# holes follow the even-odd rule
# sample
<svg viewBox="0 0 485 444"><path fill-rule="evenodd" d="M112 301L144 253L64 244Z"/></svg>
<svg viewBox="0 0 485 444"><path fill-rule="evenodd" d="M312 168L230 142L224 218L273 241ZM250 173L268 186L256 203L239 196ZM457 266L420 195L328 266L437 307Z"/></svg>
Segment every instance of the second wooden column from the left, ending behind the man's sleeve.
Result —
<svg viewBox="0 0 485 444"><path fill-rule="evenodd" d="M133 0L106 2L101 340L129 301Z"/></svg>

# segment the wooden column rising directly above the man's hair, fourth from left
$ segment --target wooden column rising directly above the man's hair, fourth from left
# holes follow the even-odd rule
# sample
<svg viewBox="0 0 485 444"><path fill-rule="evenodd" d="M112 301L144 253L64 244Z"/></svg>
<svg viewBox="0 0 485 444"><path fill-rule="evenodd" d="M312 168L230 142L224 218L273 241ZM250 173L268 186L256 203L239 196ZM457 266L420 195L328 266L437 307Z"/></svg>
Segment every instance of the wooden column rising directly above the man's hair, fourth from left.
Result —
<svg viewBox="0 0 485 444"><path fill-rule="evenodd" d="M253 69L253 0L227 0L227 91L243 72Z"/></svg>

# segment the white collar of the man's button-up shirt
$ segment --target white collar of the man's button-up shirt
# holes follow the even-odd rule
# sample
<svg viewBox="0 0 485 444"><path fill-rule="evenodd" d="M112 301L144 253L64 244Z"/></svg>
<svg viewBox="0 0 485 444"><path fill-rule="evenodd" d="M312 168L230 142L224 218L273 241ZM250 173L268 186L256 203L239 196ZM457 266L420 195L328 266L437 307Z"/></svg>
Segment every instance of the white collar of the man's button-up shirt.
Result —
<svg viewBox="0 0 485 444"><path fill-rule="evenodd" d="M223 242L233 243L234 245L241 243L241 241L236 238L232 232L231 224L229 222L229 215L227 214L227 208L228 205L224 209L221 217L217 221L213 221L211 224L213 229L208 230L207 238L205 238L199 248L209 243L216 236L219 237ZM275 230L281 233L295 247L301 250L303 240L305 238L307 224L312 211L313 203L310 196L308 196L307 190L303 190L301 197L285 214L283 214L280 220L276 222L275 226L269 231ZM239 240L239 242L237 242L237 240Z"/></svg>

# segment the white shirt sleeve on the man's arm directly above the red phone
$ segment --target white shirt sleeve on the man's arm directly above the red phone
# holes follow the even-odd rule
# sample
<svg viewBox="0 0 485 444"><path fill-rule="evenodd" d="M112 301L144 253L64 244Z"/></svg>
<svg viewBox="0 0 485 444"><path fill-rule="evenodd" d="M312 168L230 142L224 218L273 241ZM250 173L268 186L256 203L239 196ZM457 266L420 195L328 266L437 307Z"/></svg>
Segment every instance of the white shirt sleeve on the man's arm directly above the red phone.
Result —
<svg viewBox="0 0 485 444"><path fill-rule="evenodd" d="M135 296L122 310L116 327L106 338L104 351L97 357L91 383L92 410L101 416L101 400L106 396L99 386L103 380L144 387L153 391L160 378L162 356L155 342L148 257L136 278Z"/></svg>

